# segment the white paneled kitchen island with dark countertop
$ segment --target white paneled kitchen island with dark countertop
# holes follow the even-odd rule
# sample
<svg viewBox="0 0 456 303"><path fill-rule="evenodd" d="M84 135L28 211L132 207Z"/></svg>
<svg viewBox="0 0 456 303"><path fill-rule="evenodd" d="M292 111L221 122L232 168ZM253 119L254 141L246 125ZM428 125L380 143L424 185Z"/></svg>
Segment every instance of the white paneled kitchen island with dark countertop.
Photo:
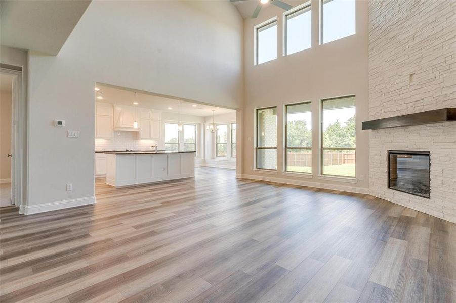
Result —
<svg viewBox="0 0 456 303"><path fill-rule="evenodd" d="M194 151L112 151L106 154L106 184L126 186L195 176Z"/></svg>

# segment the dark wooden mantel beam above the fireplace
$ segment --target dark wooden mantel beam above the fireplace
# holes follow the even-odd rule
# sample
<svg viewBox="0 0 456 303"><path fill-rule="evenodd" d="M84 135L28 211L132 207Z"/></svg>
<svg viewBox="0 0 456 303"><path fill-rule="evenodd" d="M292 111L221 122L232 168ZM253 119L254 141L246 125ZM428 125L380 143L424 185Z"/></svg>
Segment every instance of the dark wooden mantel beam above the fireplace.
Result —
<svg viewBox="0 0 456 303"><path fill-rule="evenodd" d="M362 122L362 129L382 129L447 121L456 121L456 108L444 108L390 118L364 121Z"/></svg>

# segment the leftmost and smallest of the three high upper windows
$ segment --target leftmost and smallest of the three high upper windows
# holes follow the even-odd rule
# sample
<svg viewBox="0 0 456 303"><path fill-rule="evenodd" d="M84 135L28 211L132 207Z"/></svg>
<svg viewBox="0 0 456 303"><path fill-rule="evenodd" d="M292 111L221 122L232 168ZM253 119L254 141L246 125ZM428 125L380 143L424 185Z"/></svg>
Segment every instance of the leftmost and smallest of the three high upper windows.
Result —
<svg viewBox="0 0 456 303"><path fill-rule="evenodd" d="M256 64L277 58L277 20L256 28Z"/></svg>

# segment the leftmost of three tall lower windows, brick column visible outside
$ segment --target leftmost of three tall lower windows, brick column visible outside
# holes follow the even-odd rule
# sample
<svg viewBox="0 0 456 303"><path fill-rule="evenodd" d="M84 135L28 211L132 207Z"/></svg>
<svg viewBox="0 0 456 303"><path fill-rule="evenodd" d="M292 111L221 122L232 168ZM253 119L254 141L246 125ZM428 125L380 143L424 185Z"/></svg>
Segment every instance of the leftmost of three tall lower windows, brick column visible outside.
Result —
<svg viewBox="0 0 456 303"><path fill-rule="evenodd" d="M257 165L277 169L277 107L257 110Z"/></svg>

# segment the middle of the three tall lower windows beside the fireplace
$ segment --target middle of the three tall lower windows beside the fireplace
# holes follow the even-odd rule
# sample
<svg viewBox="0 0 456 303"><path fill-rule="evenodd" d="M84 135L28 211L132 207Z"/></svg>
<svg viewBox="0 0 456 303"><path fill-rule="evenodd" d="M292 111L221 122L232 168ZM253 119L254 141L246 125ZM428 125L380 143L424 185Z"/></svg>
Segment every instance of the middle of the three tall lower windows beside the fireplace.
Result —
<svg viewBox="0 0 456 303"><path fill-rule="evenodd" d="M285 171L312 173L311 103L285 106Z"/></svg>

